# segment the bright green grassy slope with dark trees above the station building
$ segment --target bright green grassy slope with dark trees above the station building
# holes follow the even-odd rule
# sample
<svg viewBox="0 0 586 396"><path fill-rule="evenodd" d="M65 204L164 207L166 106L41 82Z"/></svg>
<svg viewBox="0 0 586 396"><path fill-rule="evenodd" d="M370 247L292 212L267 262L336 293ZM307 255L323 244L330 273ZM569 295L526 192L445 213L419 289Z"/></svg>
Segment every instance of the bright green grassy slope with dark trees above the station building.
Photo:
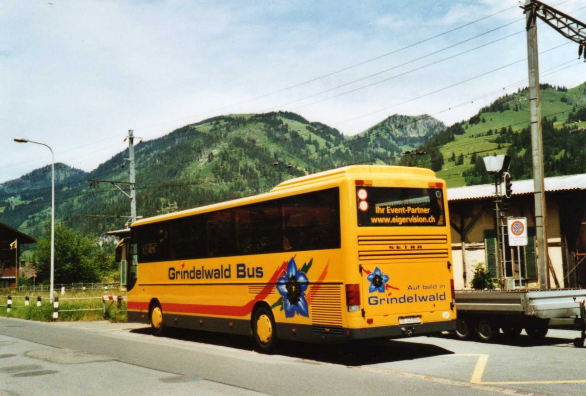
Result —
<svg viewBox="0 0 586 396"><path fill-rule="evenodd" d="M572 130L586 122L586 83L567 89L541 85L544 168L546 176L586 171L586 136ZM581 118L580 118L581 115ZM577 118L576 118L577 117ZM401 164L431 167L450 187L488 182L482 157L509 154L511 173L517 180L531 178L529 101L527 89L506 95L486 106L468 120L449 126L418 147L427 154L418 159L403 159Z"/></svg>

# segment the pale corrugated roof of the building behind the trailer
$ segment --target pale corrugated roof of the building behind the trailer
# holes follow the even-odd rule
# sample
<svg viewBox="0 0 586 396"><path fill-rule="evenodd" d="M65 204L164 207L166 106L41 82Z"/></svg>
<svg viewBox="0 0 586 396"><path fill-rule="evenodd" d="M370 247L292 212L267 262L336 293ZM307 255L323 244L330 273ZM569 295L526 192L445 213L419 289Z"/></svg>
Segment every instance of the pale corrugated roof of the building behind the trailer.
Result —
<svg viewBox="0 0 586 396"><path fill-rule="evenodd" d="M586 173L578 175L546 177L546 192L586 190ZM533 179L513 180L512 195L533 194ZM494 184L469 185L466 187L448 188L448 201L465 201L495 197Z"/></svg>

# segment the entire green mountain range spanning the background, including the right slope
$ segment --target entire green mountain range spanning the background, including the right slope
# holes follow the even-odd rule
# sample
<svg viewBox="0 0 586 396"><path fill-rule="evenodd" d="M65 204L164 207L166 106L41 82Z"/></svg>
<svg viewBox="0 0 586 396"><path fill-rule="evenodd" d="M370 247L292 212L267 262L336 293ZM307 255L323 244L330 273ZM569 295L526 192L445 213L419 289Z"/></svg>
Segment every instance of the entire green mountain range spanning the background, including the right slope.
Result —
<svg viewBox="0 0 586 396"><path fill-rule="evenodd" d="M586 172L586 83L541 86L547 176ZM428 115L390 116L355 136L295 113L226 115L186 125L135 146L137 212L163 212L270 190L281 181L347 164L428 167L449 187L489 182L482 157L513 157L516 180L532 177L527 89L446 126ZM128 181L126 151L90 173L58 164L56 218L101 234L124 227L128 198L109 183ZM0 185L0 222L38 236L49 218L50 167Z"/></svg>

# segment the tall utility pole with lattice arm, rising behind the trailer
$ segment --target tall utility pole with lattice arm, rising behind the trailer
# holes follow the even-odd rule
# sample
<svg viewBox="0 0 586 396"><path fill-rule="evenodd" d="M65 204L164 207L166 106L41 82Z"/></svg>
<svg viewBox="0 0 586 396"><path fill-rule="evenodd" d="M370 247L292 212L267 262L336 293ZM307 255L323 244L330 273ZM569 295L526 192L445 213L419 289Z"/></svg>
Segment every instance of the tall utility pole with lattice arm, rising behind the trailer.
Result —
<svg viewBox="0 0 586 396"><path fill-rule="evenodd" d="M529 105L531 146L533 160L533 188L537 245L539 287L549 288L547 252L546 196L543 171L543 142L541 139L541 98L539 91L539 52L537 51L537 18L556 29L561 35L580 44L578 57L584 49L586 36L581 29L584 23L537 0L526 0L521 7L527 23L527 66L529 69Z"/></svg>

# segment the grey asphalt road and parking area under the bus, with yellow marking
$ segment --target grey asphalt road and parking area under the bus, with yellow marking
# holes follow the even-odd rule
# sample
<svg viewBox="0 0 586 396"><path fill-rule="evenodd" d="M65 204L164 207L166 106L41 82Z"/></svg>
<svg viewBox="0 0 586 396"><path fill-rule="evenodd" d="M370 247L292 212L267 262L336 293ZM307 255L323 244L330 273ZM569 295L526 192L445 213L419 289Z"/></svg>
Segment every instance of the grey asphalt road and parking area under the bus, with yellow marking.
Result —
<svg viewBox="0 0 586 396"><path fill-rule="evenodd" d="M0 318L0 396L18 395L582 395L578 332L539 345L463 342L452 335L352 345L250 340L135 323L39 323Z"/></svg>

